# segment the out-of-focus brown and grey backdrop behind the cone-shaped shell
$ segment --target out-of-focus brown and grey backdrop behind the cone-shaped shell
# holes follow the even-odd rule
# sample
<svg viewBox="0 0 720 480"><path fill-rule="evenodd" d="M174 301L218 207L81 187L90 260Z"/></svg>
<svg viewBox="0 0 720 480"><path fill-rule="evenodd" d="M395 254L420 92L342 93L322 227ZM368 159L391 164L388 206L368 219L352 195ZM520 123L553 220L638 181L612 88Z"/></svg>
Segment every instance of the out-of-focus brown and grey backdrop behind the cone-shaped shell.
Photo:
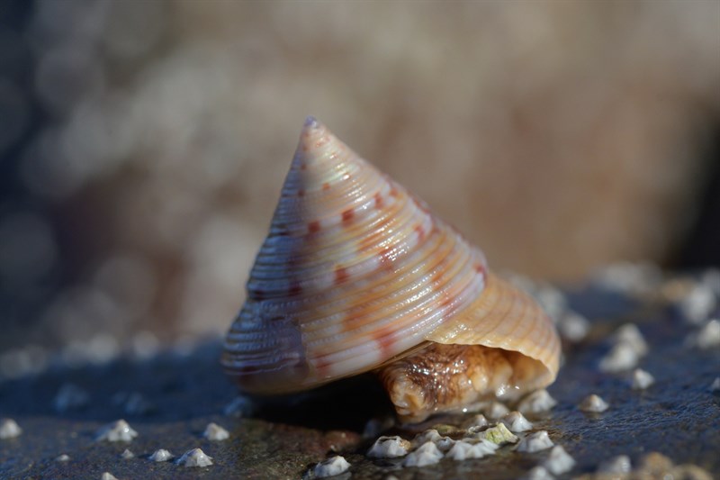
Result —
<svg viewBox="0 0 720 480"><path fill-rule="evenodd" d="M715 0L4 0L0 376L227 329L308 114L496 269L720 264Z"/></svg>

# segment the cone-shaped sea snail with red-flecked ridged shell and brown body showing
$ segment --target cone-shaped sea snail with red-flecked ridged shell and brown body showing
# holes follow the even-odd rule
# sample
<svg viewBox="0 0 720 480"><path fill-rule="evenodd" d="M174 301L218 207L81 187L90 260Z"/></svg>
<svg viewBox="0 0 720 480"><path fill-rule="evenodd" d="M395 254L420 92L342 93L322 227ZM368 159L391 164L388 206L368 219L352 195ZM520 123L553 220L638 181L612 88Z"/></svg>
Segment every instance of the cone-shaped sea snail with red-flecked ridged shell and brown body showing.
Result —
<svg viewBox="0 0 720 480"><path fill-rule="evenodd" d="M553 383L560 343L428 206L308 118L222 364L284 394L375 370L402 421Z"/></svg>

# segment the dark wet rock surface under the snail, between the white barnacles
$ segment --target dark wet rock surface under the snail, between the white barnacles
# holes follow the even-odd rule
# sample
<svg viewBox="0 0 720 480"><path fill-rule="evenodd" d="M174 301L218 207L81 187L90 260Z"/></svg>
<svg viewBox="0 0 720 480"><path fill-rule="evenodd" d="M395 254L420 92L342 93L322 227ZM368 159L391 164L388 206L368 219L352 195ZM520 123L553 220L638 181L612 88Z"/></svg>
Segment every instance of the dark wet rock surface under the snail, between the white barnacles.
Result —
<svg viewBox="0 0 720 480"><path fill-rule="evenodd" d="M593 292L570 296L573 310L591 322L589 334L565 345L565 363L549 393L558 404L551 412L528 414L533 431L547 430L576 464L559 478L592 475L612 457L626 455L633 465L659 452L675 466L704 468L720 476L720 394L709 388L720 373L718 349L690 349L683 339L693 325L675 309L642 303L618 294ZM587 306L587 308L584 308ZM634 390L630 373L603 373L599 359L608 352L610 335L633 322L649 351L638 367L653 372L655 383ZM402 458L368 458L376 438L364 438L368 421L385 419L391 406L372 376L361 376L318 391L277 399L242 397L223 375L220 343L198 346L190 355L161 353L143 361L119 359L99 367L56 367L37 376L0 383L0 416L13 418L23 435L0 440L0 477L100 478L300 478L333 454L350 463L351 478L394 475L445 478L481 475L517 478L542 465L547 452L519 454L502 447L494 456L421 468L401 467ZM82 409L58 412L53 399L62 385L79 385L92 399ZM130 394L142 400L129 408ZM599 394L611 404L606 412L585 414L578 403ZM415 426L380 422L378 435L412 439L438 424L463 425L465 416L445 415ZM95 442L95 432L126 418L139 436L130 443ZM229 439L202 438L208 423L229 430ZM458 429L460 431L462 429ZM453 430L449 429L451 437ZM173 462L149 462L157 448L181 453L202 448L213 465L184 468ZM135 457L121 457L130 448ZM67 461L57 461L66 454Z"/></svg>

